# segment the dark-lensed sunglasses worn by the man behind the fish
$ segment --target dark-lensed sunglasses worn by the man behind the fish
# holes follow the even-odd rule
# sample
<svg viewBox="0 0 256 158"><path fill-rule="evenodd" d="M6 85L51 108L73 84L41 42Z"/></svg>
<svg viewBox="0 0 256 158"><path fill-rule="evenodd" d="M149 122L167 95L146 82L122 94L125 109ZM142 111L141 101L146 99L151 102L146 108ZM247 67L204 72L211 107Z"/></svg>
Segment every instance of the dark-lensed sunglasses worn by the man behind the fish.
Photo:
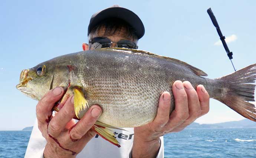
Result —
<svg viewBox="0 0 256 158"><path fill-rule="evenodd" d="M120 40L118 42L112 42L106 37L95 37L89 40L89 49L110 48L112 43L116 43L116 47L118 48L138 49L138 46L133 41Z"/></svg>

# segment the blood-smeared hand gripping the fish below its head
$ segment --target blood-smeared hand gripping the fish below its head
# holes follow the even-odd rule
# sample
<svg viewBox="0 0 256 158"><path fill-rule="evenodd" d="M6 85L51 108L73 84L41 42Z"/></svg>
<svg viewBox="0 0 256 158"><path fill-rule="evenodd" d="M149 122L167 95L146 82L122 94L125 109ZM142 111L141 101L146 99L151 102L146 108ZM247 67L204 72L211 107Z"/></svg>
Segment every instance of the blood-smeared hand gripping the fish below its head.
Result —
<svg viewBox="0 0 256 158"><path fill-rule="evenodd" d="M76 157L76 154L81 152L96 134L91 127L102 111L98 105L90 107L83 118L75 124L72 119L75 116L75 110L73 96L71 96L63 108L54 117L52 116L52 108L63 93L64 90L61 87L50 90L36 106L38 127L47 141L45 158Z"/></svg>

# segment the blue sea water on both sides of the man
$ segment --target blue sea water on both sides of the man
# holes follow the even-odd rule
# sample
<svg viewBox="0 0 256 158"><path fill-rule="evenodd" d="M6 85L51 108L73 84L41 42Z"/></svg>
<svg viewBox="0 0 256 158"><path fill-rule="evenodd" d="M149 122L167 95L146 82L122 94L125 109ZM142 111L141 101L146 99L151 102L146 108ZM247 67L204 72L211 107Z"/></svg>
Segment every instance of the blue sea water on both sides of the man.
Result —
<svg viewBox="0 0 256 158"><path fill-rule="evenodd" d="M31 131L0 131L0 158L23 158ZM256 158L256 128L185 129L164 136L165 158Z"/></svg>

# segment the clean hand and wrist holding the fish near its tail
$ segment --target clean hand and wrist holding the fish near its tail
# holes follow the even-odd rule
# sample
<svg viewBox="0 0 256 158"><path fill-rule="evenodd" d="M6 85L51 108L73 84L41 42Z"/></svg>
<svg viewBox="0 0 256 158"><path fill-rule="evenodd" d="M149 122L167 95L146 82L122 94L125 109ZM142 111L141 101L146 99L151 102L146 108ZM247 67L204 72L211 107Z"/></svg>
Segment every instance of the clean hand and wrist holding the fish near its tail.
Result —
<svg viewBox="0 0 256 158"><path fill-rule="evenodd" d="M156 157L161 136L183 130L209 111L209 94L203 85L198 85L195 90L188 81L175 81L173 95L175 110L171 115L170 93L164 92L159 99L155 119L149 124L134 128L133 158Z"/></svg>

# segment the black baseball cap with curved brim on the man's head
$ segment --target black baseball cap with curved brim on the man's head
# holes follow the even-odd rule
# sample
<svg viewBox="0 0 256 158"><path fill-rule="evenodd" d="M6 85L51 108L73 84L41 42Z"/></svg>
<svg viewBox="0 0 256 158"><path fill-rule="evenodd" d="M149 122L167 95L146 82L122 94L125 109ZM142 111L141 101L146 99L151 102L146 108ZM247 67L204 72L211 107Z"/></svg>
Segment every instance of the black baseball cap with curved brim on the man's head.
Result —
<svg viewBox="0 0 256 158"><path fill-rule="evenodd" d="M145 33L145 28L141 19L134 12L118 5L114 5L92 15L88 26L88 35L93 27L108 18L118 18L127 22L135 30L135 35L138 39Z"/></svg>

